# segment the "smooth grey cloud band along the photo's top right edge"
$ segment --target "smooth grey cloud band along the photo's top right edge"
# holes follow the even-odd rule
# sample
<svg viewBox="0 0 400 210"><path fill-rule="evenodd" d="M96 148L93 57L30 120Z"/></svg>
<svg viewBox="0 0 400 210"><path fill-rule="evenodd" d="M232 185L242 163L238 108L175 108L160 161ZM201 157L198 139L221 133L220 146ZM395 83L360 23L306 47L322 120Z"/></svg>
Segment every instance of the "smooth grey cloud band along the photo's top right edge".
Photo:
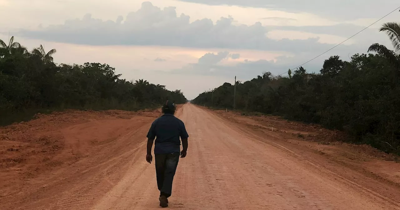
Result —
<svg viewBox="0 0 400 210"><path fill-rule="evenodd" d="M336 20L380 18L397 8L398 0L179 0L207 5L267 8L286 12L307 12Z"/></svg>

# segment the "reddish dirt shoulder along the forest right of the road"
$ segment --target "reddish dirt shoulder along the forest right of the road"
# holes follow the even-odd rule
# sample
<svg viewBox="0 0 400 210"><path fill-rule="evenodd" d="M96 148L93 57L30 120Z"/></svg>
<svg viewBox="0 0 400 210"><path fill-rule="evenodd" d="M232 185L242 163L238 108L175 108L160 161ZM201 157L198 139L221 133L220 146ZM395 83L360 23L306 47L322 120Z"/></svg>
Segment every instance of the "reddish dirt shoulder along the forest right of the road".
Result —
<svg viewBox="0 0 400 210"><path fill-rule="evenodd" d="M302 154L313 152L315 158L324 158L332 164L348 166L377 180L400 186L400 163L397 156L368 145L344 143L341 141L346 138L343 132L328 130L316 124L292 122L278 116L245 116L241 112L211 111L291 150L298 150Z"/></svg>

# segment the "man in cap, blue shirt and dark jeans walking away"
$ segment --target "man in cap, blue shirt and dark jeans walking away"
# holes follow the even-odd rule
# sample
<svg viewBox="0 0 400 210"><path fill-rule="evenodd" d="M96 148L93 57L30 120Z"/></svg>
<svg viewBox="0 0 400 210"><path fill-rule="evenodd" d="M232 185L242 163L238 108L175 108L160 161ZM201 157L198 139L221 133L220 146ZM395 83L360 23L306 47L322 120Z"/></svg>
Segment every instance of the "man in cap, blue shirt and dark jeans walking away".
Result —
<svg viewBox="0 0 400 210"><path fill-rule="evenodd" d="M178 166L179 156L186 157L188 150L188 133L182 120L174 116L175 105L166 102L162 106L163 115L152 123L147 134L147 155L146 161L151 163L153 156L151 149L153 141L154 156L156 159L157 186L160 190L160 206L168 206L168 197L172 193L172 180L174 179L176 167ZM182 140L182 151L180 151L180 140Z"/></svg>

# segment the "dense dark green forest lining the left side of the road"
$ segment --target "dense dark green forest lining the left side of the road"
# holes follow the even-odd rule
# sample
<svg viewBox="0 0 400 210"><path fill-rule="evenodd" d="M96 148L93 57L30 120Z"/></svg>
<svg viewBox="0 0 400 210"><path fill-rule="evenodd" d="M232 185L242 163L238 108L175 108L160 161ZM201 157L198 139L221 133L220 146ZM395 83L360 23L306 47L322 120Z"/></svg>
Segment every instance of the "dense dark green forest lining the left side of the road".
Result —
<svg viewBox="0 0 400 210"><path fill-rule="evenodd" d="M57 65L54 53L42 45L28 52L14 37L8 44L0 40L0 124L65 108L139 110L167 99L186 102L180 90L120 79L121 74L107 64Z"/></svg>

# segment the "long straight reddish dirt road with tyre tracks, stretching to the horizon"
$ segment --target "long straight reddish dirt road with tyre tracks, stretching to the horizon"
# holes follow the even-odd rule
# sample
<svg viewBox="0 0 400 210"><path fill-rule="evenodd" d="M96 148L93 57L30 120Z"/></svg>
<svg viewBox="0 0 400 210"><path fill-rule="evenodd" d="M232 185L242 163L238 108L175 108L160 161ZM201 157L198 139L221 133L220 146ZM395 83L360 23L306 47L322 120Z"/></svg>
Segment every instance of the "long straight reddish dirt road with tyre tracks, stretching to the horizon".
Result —
<svg viewBox="0 0 400 210"><path fill-rule="evenodd" d="M191 104L176 116L185 122L190 137L188 156L180 159L174 179L170 209L400 209L396 186L299 153ZM129 129L139 119L143 123ZM152 120L142 116L112 121L112 128L118 128L116 138L92 150L90 158L44 173L26 182L29 187L22 186L20 192L1 196L0 209L159 209L154 163L144 160ZM104 124L93 121L65 132L71 132L66 134L70 138L85 130L102 132L96 126Z"/></svg>

